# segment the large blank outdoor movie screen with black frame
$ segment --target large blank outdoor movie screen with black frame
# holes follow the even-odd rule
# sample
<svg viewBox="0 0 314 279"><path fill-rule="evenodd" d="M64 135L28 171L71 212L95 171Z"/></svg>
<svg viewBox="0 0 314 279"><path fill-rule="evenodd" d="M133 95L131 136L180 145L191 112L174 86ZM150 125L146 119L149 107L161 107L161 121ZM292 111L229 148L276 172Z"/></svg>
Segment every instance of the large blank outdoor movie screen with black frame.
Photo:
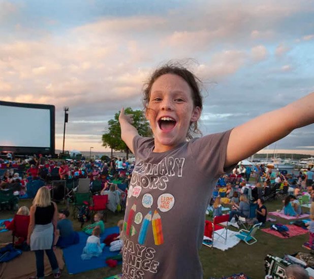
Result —
<svg viewBox="0 0 314 279"><path fill-rule="evenodd" d="M0 131L1 151L54 153L54 106L0 101Z"/></svg>

